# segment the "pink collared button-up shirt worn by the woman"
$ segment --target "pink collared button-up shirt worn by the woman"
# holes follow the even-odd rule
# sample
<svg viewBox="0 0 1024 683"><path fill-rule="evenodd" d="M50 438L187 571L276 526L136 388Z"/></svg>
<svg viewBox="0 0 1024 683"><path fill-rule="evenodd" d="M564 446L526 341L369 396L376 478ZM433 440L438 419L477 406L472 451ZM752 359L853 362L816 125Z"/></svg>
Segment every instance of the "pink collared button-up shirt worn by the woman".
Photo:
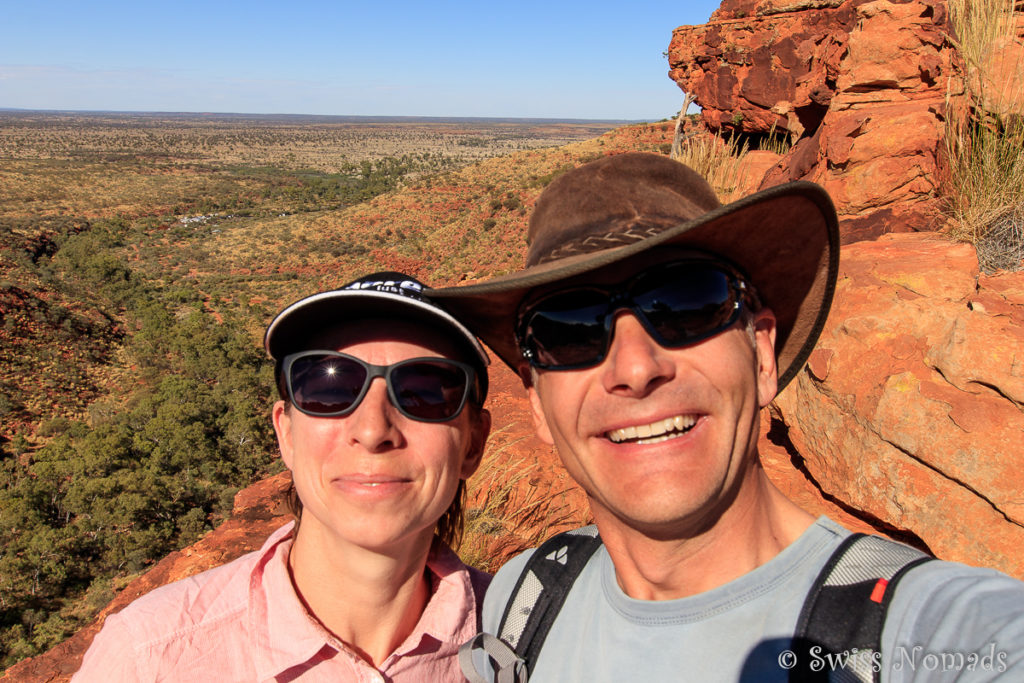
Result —
<svg viewBox="0 0 1024 683"><path fill-rule="evenodd" d="M314 620L288 572L292 528L239 559L148 593L106 617L74 683L122 681L463 681L459 645L476 633L490 578L431 552L434 592L380 670ZM435 546L436 548L436 546Z"/></svg>

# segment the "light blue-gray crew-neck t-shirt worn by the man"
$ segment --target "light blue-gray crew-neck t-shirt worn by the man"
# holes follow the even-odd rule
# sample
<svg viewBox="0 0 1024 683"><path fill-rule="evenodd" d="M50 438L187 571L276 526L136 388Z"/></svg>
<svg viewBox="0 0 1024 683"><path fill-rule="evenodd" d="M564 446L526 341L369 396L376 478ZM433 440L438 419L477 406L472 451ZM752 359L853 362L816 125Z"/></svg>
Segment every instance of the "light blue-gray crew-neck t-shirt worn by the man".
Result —
<svg viewBox="0 0 1024 683"><path fill-rule="evenodd" d="M804 599L849 531L821 517L755 570L678 600L630 598L602 546L580 574L530 681L786 681ZM483 630L497 634L528 551L495 577ZM1024 583L926 562L909 570L882 634L882 680L1024 681ZM815 663L826 671L827 659Z"/></svg>

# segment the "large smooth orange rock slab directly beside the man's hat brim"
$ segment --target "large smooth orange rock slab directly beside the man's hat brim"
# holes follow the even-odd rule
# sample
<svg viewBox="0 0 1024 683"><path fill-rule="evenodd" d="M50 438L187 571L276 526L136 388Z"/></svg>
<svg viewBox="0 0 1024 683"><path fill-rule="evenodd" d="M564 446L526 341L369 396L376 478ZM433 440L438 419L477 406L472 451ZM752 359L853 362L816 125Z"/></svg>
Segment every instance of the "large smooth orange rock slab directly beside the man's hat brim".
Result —
<svg viewBox="0 0 1024 683"><path fill-rule="evenodd" d="M934 233L847 246L840 268L773 404L794 461L855 516L1024 578L1024 271L979 274L971 246Z"/></svg>

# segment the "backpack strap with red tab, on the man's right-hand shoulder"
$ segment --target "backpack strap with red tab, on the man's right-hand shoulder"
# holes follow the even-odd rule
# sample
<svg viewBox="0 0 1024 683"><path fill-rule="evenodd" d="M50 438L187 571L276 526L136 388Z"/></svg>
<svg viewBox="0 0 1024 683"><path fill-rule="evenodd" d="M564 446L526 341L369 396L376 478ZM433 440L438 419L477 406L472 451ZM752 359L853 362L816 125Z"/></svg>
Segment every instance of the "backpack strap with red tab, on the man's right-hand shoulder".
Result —
<svg viewBox="0 0 1024 683"><path fill-rule="evenodd" d="M841 678L877 683L882 628L896 584L930 559L920 550L879 536L852 533L845 539L804 601L793 640L797 666L790 681ZM821 661L819 671L809 668Z"/></svg>

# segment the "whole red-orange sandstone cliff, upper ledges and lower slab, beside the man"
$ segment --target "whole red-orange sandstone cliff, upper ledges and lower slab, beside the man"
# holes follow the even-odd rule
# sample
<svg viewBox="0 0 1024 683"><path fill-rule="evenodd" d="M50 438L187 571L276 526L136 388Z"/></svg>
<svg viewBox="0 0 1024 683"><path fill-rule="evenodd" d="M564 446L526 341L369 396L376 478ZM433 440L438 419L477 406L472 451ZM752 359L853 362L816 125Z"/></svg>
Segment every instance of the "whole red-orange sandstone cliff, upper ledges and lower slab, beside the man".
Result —
<svg viewBox="0 0 1024 683"><path fill-rule="evenodd" d="M1017 27L985 65L1015 84L985 102L1000 115L1024 106L1024 13ZM937 233L895 234L942 227L944 117L965 80L951 31L941 0L725 0L676 29L670 76L710 130L791 135L752 188L814 180L840 213L836 302L773 404L776 440L855 516L1024 577L1024 275L982 275L972 247Z"/></svg>

